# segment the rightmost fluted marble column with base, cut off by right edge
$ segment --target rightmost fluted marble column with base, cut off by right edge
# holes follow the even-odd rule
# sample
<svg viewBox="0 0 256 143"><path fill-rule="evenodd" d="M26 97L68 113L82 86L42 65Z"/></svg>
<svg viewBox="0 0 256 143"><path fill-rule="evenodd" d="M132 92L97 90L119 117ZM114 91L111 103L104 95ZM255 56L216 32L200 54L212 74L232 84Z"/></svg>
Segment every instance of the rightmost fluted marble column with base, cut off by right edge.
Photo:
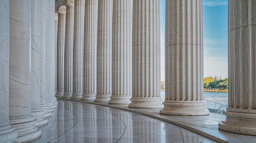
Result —
<svg viewBox="0 0 256 143"><path fill-rule="evenodd" d="M228 107L219 128L256 135L256 1L228 1Z"/></svg>

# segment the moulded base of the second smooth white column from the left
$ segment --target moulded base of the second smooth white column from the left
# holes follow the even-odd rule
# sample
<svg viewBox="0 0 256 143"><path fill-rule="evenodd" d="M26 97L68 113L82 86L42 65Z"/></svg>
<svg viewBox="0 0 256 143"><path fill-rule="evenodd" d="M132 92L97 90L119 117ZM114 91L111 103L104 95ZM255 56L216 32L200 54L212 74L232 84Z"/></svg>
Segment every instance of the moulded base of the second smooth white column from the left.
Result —
<svg viewBox="0 0 256 143"><path fill-rule="evenodd" d="M10 123L18 132L16 142L31 142L41 136L41 130L36 126L37 120L31 115L10 117Z"/></svg>

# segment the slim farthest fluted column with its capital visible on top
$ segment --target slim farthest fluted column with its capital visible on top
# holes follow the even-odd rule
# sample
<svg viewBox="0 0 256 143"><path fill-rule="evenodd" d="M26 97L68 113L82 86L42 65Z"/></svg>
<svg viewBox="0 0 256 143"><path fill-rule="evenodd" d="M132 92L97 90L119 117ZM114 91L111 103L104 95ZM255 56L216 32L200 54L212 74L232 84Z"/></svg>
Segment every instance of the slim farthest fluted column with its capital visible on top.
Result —
<svg viewBox="0 0 256 143"><path fill-rule="evenodd" d="M58 14L58 39L57 39L57 93L60 98L64 94L64 49L65 49L65 21L66 8L60 7Z"/></svg>

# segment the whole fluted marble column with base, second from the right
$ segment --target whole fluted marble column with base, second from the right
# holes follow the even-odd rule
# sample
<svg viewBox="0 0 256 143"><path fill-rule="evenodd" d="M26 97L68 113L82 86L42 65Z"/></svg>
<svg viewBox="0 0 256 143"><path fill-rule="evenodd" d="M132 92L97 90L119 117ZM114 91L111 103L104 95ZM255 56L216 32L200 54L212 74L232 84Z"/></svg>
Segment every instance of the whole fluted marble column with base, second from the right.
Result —
<svg viewBox="0 0 256 143"><path fill-rule="evenodd" d="M203 99L202 1L166 1L166 95L161 114L208 115Z"/></svg>

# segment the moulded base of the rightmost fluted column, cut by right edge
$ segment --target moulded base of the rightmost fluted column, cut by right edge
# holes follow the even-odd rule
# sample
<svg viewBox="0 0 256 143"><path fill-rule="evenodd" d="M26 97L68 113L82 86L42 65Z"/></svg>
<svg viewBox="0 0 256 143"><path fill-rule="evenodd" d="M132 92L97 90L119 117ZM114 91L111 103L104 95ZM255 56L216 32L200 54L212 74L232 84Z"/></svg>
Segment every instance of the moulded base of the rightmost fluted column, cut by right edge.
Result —
<svg viewBox="0 0 256 143"><path fill-rule="evenodd" d="M226 119L219 123L219 129L245 135L256 135L256 114L224 111Z"/></svg>

